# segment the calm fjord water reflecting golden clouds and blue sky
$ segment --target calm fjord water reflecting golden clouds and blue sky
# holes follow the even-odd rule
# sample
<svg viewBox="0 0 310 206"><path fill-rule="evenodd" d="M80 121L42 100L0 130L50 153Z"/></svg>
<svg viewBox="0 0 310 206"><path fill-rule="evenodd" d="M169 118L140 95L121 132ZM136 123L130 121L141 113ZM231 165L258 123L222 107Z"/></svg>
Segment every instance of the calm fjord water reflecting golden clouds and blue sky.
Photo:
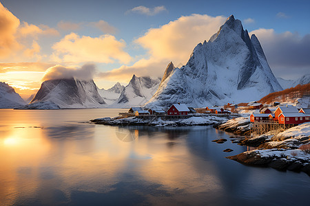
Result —
<svg viewBox="0 0 310 206"><path fill-rule="evenodd" d="M0 205L309 204L307 174L225 159L247 147L211 126L85 123L118 111L0 109Z"/></svg>

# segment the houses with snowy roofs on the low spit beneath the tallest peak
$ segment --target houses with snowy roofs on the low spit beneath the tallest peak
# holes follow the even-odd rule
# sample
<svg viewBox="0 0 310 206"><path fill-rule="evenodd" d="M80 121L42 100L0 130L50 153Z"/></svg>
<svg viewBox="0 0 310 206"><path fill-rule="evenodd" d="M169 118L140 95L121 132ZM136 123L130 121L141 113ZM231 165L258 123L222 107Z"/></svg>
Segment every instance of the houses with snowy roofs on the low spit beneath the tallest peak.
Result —
<svg viewBox="0 0 310 206"><path fill-rule="evenodd" d="M188 107L186 104L172 104L167 111L163 111L161 108L149 108L148 110L143 110L141 107L132 107L128 111L128 113L132 113L135 116L147 116L147 115L168 115L168 116L176 116L176 115L188 115L189 113L196 113L195 109L192 107Z"/></svg>

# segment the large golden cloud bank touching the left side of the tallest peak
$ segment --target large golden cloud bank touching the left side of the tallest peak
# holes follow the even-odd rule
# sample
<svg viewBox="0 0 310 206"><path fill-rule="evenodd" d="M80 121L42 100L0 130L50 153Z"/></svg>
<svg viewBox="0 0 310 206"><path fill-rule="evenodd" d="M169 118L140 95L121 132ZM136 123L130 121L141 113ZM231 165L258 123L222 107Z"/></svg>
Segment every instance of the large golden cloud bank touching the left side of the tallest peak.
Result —
<svg viewBox="0 0 310 206"><path fill-rule="evenodd" d="M167 64L172 61L176 67L184 65L194 47L215 34L227 18L192 14L182 16L158 28L149 29L135 43L147 49L147 56L132 66L122 66L100 73L101 78L127 80L137 76L163 76Z"/></svg>

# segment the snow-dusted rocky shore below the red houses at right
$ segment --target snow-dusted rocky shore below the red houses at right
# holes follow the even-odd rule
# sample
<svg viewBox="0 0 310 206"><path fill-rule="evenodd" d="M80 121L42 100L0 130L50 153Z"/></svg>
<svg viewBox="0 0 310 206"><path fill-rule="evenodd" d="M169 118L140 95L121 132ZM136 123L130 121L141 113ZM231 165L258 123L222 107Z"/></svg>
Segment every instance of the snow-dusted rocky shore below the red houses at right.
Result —
<svg viewBox="0 0 310 206"><path fill-rule="evenodd" d="M249 120L245 117L230 119L214 128L235 135L249 135ZM277 170L305 172L310 176L310 124L301 124L278 135L266 133L257 137L239 137L232 141L256 150L226 157L246 165L259 165Z"/></svg>

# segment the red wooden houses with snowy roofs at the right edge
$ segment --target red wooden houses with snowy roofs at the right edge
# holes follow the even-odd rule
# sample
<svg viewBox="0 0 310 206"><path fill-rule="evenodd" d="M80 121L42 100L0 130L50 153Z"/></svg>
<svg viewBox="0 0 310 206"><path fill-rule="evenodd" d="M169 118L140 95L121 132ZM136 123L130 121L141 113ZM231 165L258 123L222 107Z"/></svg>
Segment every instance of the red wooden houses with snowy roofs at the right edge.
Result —
<svg viewBox="0 0 310 206"><path fill-rule="evenodd" d="M278 106L276 109L262 108L260 113L250 115L251 122L275 121L278 124L302 124L310 122L310 108Z"/></svg>

